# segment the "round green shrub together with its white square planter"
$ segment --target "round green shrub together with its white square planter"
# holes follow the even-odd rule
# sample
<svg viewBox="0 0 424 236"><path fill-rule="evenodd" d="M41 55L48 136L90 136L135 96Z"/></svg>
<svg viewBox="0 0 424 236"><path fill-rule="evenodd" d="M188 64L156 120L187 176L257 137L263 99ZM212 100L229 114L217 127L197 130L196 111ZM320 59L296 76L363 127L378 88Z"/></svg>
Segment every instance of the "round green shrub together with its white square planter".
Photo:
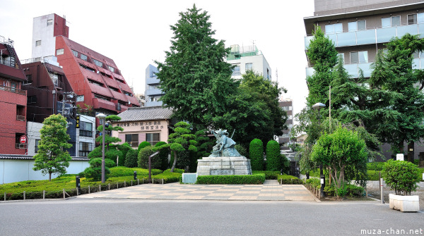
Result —
<svg viewBox="0 0 424 236"><path fill-rule="evenodd" d="M389 206L400 211L420 211L418 195L411 196L420 182L420 169L409 161L389 160L384 164L383 178L396 194L389 194Z"/></svg>

